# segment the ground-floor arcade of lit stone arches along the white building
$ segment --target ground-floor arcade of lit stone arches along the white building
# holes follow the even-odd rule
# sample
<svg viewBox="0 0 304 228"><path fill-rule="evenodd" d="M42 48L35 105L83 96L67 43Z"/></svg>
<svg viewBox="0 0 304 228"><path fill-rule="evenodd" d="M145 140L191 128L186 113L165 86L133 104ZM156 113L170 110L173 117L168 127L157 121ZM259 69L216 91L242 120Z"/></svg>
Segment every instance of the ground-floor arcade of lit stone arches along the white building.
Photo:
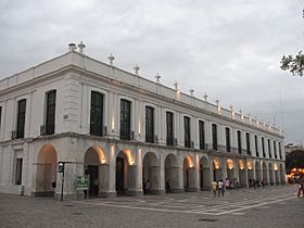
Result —
<svg viewBox="0 0 304 228"><path fill-rule="evenodd" d="M88 175L88 197L164 194L210 190L213 180L228 179L231 188L252 187L253 182L286 182L284 163L273 160L239 157L236 154L186 150L160 150L125 144L109 144L107 150L89 147L78 161L65 161L58 172L59 152L46 144L34 168L35 195L60 195L76 199L77 176ZM60 155L62 157L62 155Z"/></svg>

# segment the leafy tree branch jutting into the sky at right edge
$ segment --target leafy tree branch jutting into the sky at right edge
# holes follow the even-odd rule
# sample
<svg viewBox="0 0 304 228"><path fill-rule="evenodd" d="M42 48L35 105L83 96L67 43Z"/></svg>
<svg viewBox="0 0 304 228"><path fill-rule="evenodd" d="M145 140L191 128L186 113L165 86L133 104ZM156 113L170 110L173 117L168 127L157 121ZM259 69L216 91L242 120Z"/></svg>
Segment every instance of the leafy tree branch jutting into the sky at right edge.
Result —
<svg viewBox="0 0 304 228"><path fill-rule="evenodd" d="M302 51L299 52L294 58L292 55L283 55L281 59L281 69L290 71L291 74L300 77L304 74L304 54Z"/></svg>

